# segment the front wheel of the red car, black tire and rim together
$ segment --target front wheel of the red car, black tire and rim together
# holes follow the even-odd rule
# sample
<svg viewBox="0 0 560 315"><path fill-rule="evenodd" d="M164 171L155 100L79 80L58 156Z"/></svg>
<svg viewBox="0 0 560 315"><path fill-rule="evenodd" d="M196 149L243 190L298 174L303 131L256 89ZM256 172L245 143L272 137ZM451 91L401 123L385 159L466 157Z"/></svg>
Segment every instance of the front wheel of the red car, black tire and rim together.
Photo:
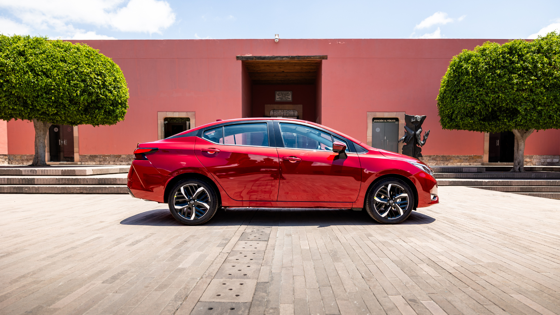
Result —
<svg viewBox="0 0 560 315"><path fill-rule="evenodd" d="M389 193L387 192L388 189ZM387 195L389 195L389 198ZM398 178L383 179L370 187L366 194L367 213L375 221L382 224L401 223L407 219L413 207L414 193L412 189Z"/></svg>

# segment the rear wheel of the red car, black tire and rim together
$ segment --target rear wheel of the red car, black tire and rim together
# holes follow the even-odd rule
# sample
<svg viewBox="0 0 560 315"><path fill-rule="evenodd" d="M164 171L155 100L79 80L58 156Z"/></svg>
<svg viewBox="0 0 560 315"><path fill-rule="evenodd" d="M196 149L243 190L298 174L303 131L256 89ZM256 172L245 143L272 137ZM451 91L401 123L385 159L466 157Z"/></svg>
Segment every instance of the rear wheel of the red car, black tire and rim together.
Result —
<svg viewBox="0 0 560 315"><path fill-rule="evenodd" d="M200 179L180 180L169 192L167 200L173 217L185 225L204 224L218 210L216 191Z"/></svg>

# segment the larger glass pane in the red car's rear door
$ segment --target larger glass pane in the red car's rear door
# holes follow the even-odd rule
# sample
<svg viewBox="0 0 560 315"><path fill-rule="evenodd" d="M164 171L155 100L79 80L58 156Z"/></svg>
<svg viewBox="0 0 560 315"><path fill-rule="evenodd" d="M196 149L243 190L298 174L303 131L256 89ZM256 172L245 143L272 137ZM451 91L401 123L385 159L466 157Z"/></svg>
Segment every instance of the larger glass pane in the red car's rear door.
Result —
<svg viewBox="0 0 560 315"><path fill-rule="evenodd" d="M267 123L234 124L223 127L224 144L268 146Z"/></svg>

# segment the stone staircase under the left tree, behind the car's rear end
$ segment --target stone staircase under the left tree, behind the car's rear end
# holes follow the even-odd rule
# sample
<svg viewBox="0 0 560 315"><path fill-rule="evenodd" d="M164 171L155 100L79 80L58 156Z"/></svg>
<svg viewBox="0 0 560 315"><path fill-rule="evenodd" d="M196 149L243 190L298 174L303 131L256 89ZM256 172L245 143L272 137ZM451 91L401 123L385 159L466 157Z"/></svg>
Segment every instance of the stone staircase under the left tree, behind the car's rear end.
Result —
<svg viewBox="0 0 560 315"><path fill-rule="evenodd" d="M0 193L128 193L128 165L0 166Z"/></svg>

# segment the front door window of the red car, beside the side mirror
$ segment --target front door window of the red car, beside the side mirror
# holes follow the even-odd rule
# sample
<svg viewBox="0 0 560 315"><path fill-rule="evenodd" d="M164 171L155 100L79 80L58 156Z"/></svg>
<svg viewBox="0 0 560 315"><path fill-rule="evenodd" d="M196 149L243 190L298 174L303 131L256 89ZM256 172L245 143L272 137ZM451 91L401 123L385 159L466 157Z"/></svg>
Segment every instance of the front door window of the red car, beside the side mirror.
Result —
<svg viewBox="0 0 560 315"><path fill-rule="evenodd" d="M307 150L333 150L333 138L329 133L299 124L280 123L285 147Z"/></svg>

